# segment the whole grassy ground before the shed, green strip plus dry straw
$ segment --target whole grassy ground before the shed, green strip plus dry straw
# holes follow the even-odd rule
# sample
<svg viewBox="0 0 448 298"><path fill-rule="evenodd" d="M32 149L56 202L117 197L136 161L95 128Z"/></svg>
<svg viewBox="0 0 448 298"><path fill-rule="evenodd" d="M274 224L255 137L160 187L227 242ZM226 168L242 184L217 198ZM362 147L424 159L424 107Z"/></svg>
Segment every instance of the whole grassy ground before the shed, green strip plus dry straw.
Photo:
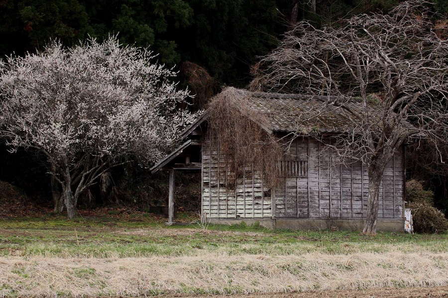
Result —
<svg viewBox="0 0 448 298"><path fill-rule="evenodd" d="M105 216L2 220L0 239L0 297L448 286L447 234L167 227L163 220Z"/></svg>

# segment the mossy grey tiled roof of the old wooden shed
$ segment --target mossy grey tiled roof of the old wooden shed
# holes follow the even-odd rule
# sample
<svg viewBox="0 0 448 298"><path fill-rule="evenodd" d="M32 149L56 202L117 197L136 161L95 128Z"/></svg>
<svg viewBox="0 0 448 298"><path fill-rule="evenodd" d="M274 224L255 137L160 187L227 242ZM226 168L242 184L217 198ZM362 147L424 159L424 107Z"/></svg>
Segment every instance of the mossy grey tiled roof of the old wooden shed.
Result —
<svg viewBox="0 0 448 298"><path fill-rule="evenodd" d="M349 115L347 109L333 105L334 98L328 96L249 92L233 87L227 87L221 94L240 97L241 101L236 101L241 103L240 111L268 132L303 131L307 134L310 132L326 134L344 133L352 131L354 127L359 128L359 123L353 122L356 121L355 117ZM248 106L243 108L245 103ZM344 105L355 114L363 114L363 105L359 101L347 101ZM381 104L370 104L368 109L370 123L381 127ZM182 139L206 121L208 116L208 111L205 111L185 130ZM404 125L411 126L407 122Z"/></svg>

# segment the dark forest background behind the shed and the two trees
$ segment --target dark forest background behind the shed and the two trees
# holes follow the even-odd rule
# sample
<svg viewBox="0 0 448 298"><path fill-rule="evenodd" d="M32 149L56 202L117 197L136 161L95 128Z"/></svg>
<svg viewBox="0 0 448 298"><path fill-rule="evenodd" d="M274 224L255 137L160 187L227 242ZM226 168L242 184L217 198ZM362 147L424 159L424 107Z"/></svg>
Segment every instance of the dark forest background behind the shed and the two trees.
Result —
<svg viewBox="0 0 448 298"><path fill-rule="evenodd" d="M433 0L447 22L448 1ZM50 39L70 46L94 37L117 35L123 44L149 47L161 64L178 71L179 87L189 87L192 109L201 109L222 86L246 86L260 56L278 45L298 21L338 26L342 18L388 11L398 0L1 0L0 56L43 49ZM447 32L442 32L443 38ZM0 142L1 143L1 142ZM435 192L435 205L448 212L448 168L424 143L407 146L407 175ZM445 149L445 152L448 152ZM448 154L446 154L448 156ZM200 177L177 174L177 205L199 206ZM9 153L0 144L0 180L51 207L45 159L35 152ZM107 185L90 189L81 207L110 204L148 208L165 205L167 177L139 166L117 168ZM1 192L1 189L0 189Z"/></svg>

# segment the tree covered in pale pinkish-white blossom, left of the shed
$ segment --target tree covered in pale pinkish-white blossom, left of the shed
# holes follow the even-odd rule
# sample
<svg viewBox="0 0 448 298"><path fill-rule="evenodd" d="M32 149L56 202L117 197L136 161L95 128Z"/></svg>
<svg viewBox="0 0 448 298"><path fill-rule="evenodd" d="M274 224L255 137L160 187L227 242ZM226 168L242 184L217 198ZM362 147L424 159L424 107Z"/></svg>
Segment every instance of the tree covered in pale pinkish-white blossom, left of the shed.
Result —
<svg viewBox="0 0 448 298"><path fill-rule="evenodd" d="M192 121L178 109L188 91L177 90L176 73L153 59L111 37L69 49L53 42L0 62L0 137L12 151L45 154L70 219L81 194L111 167L131 155L154 162Z"/></svg>

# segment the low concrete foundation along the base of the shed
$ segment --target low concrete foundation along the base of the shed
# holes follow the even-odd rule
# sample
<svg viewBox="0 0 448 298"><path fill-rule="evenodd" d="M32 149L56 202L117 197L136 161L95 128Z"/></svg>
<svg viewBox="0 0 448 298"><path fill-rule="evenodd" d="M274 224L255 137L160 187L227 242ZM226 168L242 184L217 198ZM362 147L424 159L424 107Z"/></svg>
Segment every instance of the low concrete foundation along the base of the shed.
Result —
<svg viewBox="0 0 448 298"><path fill-rule="evenodd" d="M211 224L246 224L259 223L267 228L281 228L292 230L351 230L360 231L364 227L365 221L362 219L296 219L296 218L276 218L276 219L210 219ZM377 231L404 232L404 219L378 219Z"/></svg>

